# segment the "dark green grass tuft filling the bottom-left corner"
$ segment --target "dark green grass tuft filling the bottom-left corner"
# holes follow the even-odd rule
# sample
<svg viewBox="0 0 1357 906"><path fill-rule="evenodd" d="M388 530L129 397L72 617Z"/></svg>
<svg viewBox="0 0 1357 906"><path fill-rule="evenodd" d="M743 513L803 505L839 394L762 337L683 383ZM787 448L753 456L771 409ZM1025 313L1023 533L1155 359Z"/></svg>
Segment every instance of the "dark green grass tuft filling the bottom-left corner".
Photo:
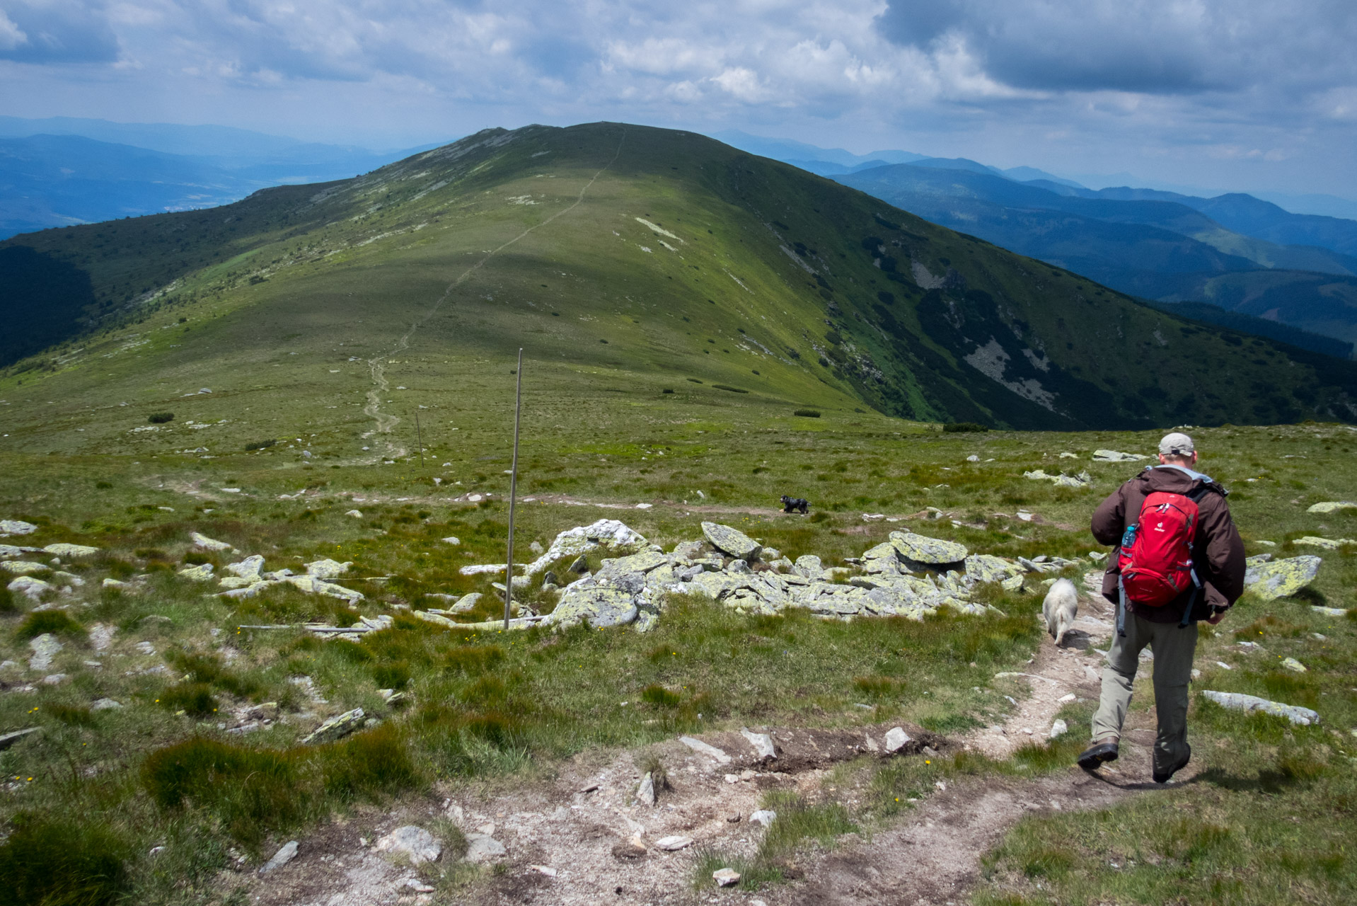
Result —
<svg viewBox="0 0 1357 906"><path fill-rule="evenodd" d="M0 906L107 906L130 887L128 845L99 822L19 814L0 844Z"/></svg>

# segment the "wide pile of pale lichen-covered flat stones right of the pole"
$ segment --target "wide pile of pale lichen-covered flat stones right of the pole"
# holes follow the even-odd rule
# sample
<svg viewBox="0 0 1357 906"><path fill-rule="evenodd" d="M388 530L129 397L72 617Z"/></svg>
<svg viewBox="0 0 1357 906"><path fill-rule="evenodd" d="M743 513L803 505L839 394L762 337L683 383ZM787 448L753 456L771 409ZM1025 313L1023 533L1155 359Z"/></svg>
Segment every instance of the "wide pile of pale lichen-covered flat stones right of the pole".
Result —
<svg viewBox="0 0 1357 906"><path fill-rule="evenodd" d="M577 537L604 534L593 528L573 531ZM856 569L825 569L820 557L798 557L792 562L730 526L704 522L702 531L703 541L683 542L668 553L650 545L639 553L605 558L598 572L560 591L550 621L558 626L634 625L645 632L658 618L666 594L706 595L748 614L801 607L825 618L923 619L939 607L951 607L978 615L988 607L972 600L977 584L1001 583L1012 590L1022 585L1027 573L1056 572L1075 564L1060 558L1038 562L972 554L953 541L894 531L889 541L851 558ZM645 539L639 543L645 545Z"/></svg>

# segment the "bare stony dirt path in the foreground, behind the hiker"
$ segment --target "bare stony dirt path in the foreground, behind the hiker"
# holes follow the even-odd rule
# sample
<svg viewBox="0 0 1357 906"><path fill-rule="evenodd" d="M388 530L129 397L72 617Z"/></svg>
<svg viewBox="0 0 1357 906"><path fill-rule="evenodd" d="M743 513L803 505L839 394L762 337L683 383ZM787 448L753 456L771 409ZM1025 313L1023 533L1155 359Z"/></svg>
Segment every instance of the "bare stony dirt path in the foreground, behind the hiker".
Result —
<svg viewBox="0 0 1357 906"><path fill-rule="evenodd" d="M1029 695L1000 727L962 739L943 739L905 727L912 742L896 757L919 757L924 746L942 754L966 747L995 758L1044 738L1067 695L1096 698L1102 656L1113 626L1111 609L1099 598L1084 598L1076 632L1057 649L1045 638L1022 676ZM1132 712L1132 721L1152 720ZM224 872L227 887L246 888L251 903L358 906L366 903L560 903L596 906L689 905L699 902L749 906L818 906L826 903L955 903L966 898L980 871L980 858L1023 815L1050 810L1110 805L1155 789L1149 780L1152 728L1132 723L1122 758L1098 776L1076 767L1022 780L980 777L944 784L902 819L871 834L849 834L833 852L811 854L794 873L802 876L757 894L693 890L695 853L716 848L753 854L763 827L750 820L767 789L817 795L839 762L863 755L883 757L890 724L858 729L753 727L769 732L778 757L760 762L740 733L712 732L700 739L721 750L712 757L678 739L651 747L666 766L670 789L655 805L635 799L642 773L635 753L589 751L558 767L554 777L459 791L406 803L392 811L360 811L301 838L297 857L259 877L254 868ZM1027 732L1030 731L1030 732ZM1083 735L1083 727L1069 732ZM1193 774L1189 767L1179 780ZM856 805L854 792L844 804ZM379 854L373 844L404 825L456 823L468 834L487 834L506 853L493 861L482 880L453 899L436 890L437 871L411 868ZM680 848L658 844L681 837ZM453 861L445 854L440 867ZM712 899L716 898L716 899Z"/></svg>

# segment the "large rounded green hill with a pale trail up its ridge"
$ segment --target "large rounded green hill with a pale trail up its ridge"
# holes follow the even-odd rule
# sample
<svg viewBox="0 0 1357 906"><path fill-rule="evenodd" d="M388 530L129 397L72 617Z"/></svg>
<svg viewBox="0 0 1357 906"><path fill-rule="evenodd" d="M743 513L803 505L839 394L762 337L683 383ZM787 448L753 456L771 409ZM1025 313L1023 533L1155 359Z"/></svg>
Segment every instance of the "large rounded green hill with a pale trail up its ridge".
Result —
<svg viewBox="0 0 1357 906"><path fill-rule="evenodd" d="M389 455L406 387L475 406L518 346L562 418L676 386L1054 429L1357 416L1346 363L617 124L487 130L357 179L0 244L0 266L18 255L84 274L96 325L0 379L7 443L34 450L155 448L130 429L175 403L228 446L304 422L334 455ZM33 303L5 304L24 333Z"/></svg>

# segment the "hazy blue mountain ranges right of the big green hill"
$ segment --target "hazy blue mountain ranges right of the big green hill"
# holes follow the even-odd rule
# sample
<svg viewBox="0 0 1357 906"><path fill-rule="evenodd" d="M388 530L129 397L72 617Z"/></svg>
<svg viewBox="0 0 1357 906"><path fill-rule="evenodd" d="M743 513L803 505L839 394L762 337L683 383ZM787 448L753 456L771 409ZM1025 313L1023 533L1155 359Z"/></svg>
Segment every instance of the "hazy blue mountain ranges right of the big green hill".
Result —
<svg viewBox="0 0 1357 906"><path fill-rule="evenodd" d="M1198 321L1341 357L1357 342L1357 220L1240 193L1094 190L1034 167L716 137L1158 306L1191 303L1178 311Z"/></svg>

